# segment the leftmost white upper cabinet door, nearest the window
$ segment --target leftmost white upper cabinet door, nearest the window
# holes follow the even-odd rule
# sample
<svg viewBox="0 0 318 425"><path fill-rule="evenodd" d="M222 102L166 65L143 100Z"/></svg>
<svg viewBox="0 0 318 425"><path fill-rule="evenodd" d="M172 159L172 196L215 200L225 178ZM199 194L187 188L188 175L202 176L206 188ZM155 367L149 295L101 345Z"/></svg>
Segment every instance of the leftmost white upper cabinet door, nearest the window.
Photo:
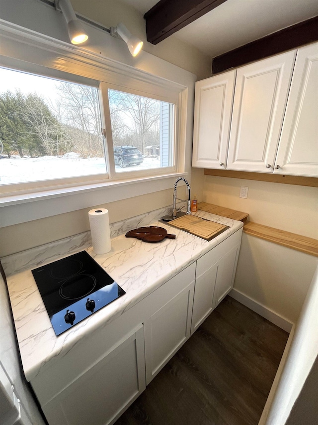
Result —
<svg viewBox="0 0 318 425"><path fill-rule="evenodd" d="M195 86L194 167L225 169L236 71L226 72Z"/></svg>

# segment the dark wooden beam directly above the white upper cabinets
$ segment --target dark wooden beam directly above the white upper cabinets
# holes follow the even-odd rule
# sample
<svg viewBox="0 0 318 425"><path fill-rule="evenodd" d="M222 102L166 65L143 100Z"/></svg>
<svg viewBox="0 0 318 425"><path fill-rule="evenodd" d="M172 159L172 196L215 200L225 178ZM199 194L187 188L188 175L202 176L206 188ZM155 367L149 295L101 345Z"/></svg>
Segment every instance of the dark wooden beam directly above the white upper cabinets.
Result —
<svg viewBox="0 0 318 425"><path fill-rule="evenodd" d="M318 16L315 16L215 57L212 60L212 74L296 49L317 40Z"/></svg>

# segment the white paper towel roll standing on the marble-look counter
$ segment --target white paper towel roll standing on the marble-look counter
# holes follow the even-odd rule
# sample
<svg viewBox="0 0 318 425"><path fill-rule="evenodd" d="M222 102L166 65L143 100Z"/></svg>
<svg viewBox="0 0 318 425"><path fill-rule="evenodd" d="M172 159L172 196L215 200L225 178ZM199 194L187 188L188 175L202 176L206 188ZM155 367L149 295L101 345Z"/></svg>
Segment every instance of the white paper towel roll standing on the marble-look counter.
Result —
<svg viewBox="0 0 318 425"><path fill-rule="evenodd" d="M96 208L88 212L93 250L105 254L111 250L108 210Z"/></svg>

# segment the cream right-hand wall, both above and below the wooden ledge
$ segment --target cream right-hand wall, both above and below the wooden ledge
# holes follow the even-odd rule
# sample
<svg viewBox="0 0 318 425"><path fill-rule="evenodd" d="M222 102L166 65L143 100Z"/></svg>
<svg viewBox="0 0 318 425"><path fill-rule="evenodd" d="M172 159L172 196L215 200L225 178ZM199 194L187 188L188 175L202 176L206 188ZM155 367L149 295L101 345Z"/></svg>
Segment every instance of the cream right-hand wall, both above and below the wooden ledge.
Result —
<svg viewBox="0 0 318 425"><path fill-rule="evenodd" d="M249 187L247 199L239 198L240 186ZM265 226L318 239L315 187L204 176L199 200L247 212L250 221ZM295 323L317 262L317 257L243 234L232 295L250 308L258 304L257 311L280 326L280 319Z"/></svg>

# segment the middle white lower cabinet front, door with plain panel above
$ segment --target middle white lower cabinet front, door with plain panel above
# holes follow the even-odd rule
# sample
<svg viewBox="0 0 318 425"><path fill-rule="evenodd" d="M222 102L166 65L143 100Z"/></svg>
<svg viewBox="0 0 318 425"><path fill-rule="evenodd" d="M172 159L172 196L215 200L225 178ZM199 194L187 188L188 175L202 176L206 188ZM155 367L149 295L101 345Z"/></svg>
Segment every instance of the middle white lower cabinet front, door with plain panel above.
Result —
<svg viewBox="0 0 318 425"><path fill-rule="evenodd" d="M194 276L192 264L150 295L144 322L147 385L190 337Z"/></svg>

